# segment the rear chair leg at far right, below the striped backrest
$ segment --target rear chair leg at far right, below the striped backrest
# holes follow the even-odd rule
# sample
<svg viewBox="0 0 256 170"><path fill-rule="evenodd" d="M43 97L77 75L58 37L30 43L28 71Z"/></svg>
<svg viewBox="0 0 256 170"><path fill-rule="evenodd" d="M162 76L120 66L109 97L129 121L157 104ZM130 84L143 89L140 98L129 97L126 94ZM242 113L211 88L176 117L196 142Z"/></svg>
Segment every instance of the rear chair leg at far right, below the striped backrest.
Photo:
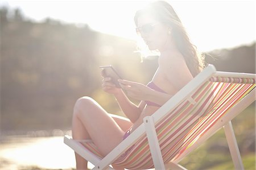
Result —
<svg viewBox="0 0 256 170"><path fill-rule="evenodd" d="M228 123L226 123L226 125L224 125L224 131L226 135L226 140L228 141L229 150L232 156L235 169L239 169L239 170L244 169L231 121L229 121Z"/></svg>

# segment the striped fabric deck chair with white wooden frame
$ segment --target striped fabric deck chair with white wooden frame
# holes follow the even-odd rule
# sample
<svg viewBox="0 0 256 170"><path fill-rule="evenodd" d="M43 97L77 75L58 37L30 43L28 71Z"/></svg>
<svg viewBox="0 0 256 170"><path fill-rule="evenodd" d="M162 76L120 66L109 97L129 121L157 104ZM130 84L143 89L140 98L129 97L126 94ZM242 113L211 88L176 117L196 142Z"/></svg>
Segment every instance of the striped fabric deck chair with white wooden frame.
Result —
<svg viewBox="0 0 256 170"><path fill-rule="evenodd" d="M93 169L185 169L179 161L224 127L234 167L243 169L231 120L255 101L255 75L208 65L105 157L92 141L65 136L64 143Z"/></svg>

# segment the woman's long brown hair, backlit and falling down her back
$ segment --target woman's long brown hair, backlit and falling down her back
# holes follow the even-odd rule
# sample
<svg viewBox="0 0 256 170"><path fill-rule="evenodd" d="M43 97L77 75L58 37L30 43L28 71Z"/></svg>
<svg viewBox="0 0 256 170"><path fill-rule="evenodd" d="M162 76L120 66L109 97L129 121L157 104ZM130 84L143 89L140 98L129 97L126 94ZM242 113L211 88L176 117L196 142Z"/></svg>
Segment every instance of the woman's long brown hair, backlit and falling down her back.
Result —
<svg viewBox="0 0 256 170"><path fill-rule="evenodd" d="M201 72L204 68L204 55L199 53L196 46L191 43L179 16L177 16L169 3L166 1L155 1L150 3L146 8L137 11L134 16L136 26L138 26L138 18L142 14L150 14L159 22L170 27L172 38L177 48L184 56L192 76L195 77L196 74Z"/></svg>

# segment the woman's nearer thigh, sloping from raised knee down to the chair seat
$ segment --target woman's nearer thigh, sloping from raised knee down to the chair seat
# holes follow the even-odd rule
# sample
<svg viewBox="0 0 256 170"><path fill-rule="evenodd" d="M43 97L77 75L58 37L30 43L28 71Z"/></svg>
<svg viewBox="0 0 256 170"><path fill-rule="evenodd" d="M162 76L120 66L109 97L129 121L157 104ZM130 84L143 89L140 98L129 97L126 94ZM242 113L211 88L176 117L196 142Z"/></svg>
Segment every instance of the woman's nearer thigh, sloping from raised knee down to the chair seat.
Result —
<svg viewBox="0 0 256 170"><path fill-rule="evenodd" d="M82 97L78 99L74 109L77 113L76 116L103 156L107 155L122 141L125 132L110 114L92 98Z"/></svg>

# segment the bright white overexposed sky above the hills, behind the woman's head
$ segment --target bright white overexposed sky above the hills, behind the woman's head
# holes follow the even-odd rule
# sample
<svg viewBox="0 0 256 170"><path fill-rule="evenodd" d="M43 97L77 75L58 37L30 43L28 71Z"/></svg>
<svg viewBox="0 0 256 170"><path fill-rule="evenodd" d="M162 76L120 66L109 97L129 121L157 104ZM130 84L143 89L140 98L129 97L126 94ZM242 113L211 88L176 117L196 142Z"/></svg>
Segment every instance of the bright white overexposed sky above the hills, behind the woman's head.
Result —
<svg viewBox="0 0 256 170"><path fill-rule="evenodd" d="M138 39L135 11L151 1L6 1L1 6L19 8L26 18L46 18L88 24L96 31ZM233 48L255 42L255 1L168 1L179 15L193 44L200 51Z"/></svg>

